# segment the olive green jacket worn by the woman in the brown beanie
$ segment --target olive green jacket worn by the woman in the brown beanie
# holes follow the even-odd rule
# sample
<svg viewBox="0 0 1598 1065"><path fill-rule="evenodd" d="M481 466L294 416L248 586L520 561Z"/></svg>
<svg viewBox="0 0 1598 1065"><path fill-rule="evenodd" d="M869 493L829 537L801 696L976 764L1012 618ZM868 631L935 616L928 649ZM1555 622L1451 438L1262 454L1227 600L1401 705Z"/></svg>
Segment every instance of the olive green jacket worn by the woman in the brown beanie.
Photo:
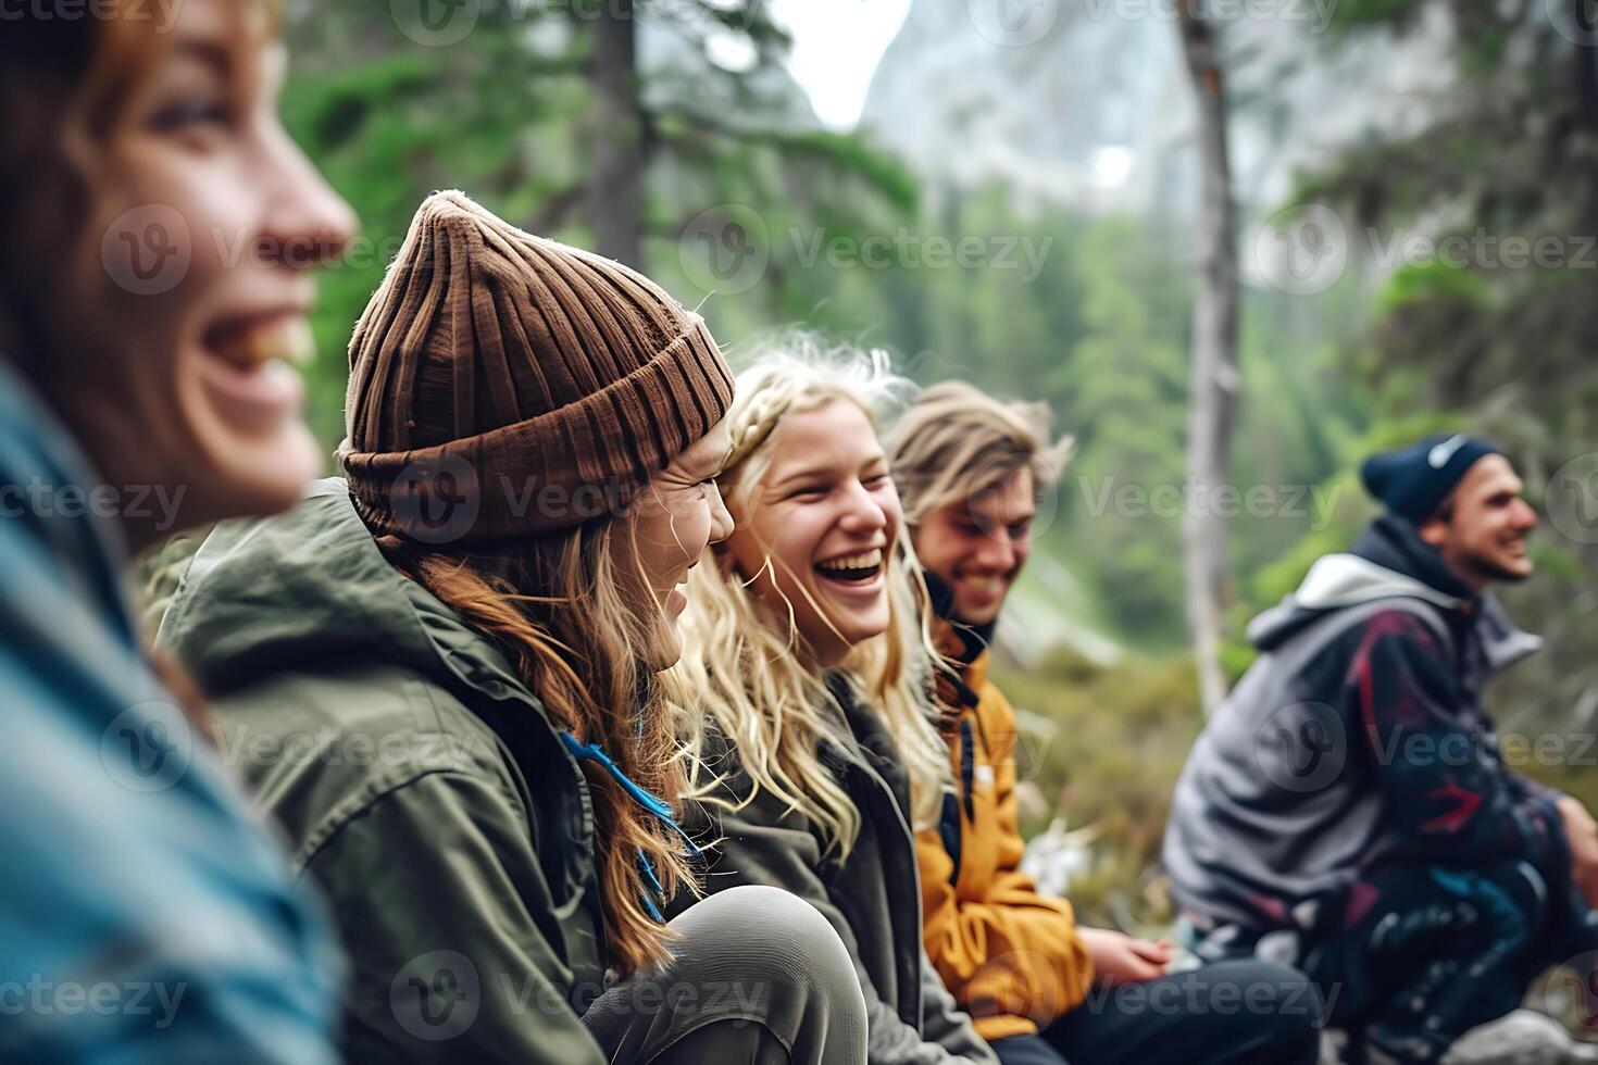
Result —
<svg viewBox="0 0 1598 1065"><path fill-rule="evenodd" d="M331 904L348 1060L604 1062L578 1019L606 968L582 770L505 658L388 565L342 481L219 525L160 642Z"/></svg>

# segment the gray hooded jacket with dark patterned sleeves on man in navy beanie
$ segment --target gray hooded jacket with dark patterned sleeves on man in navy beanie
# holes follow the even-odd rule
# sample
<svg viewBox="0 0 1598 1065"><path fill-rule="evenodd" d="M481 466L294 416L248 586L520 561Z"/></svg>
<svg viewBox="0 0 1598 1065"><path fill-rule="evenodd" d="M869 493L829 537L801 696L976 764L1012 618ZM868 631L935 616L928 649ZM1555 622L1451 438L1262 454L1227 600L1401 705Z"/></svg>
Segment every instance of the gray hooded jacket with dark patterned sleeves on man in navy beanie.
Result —
<svg viewBox="0 0 1598 1065"><path fill-rule="evenodd" d="M1389 862L1568 862L1552 792L1504 765L1481 704L1540 640L1413 525L1377 519L1248 635L1262 653L1194 746L1165 833L1200 926L1307 928Z"/></svg>

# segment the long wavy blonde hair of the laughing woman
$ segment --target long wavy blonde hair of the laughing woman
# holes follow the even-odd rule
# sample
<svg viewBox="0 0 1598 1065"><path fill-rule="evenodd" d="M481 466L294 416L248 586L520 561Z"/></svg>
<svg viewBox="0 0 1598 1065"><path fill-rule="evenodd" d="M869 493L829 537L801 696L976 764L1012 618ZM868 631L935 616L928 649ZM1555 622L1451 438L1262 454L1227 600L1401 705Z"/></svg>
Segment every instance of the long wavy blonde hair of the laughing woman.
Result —
<svg viewBox="0 0 1598 1065"><path fill-rule="evenodd" d="M772 431L781 418L844 401L876 426L884 409L909 388L890 372L880 351L865 356L847 346L829 348L805 334L759 348L751 369L738 375L727 414L732 453L718 477L733 521L741 524L749 514L751 489L770 466ZM783 564L767 551L765 565ZM948 771L932 725L932 615L903 529L884 565L888 629L857 645L842 669L887 719L911 779L912 821L925 827L936 818ZM682 715L697 723L689 733L695 752L689 794L724 805L716 797L721 766L706 762L705 725L713 723L733 744L738 766L753 781L741 803L761 789L770 790L820 827L828 851L836 846L847 856L860 832L860 813L820 760L820 746L844 726L842 707L826 687L826 669L794 624L793 604L762 602L753 588L756 576L718 567L711 557L689 576L689 607L679 621L684 651L671 671L702 707L700 714ZM817 613L826 616L825 610Z"/></svg>

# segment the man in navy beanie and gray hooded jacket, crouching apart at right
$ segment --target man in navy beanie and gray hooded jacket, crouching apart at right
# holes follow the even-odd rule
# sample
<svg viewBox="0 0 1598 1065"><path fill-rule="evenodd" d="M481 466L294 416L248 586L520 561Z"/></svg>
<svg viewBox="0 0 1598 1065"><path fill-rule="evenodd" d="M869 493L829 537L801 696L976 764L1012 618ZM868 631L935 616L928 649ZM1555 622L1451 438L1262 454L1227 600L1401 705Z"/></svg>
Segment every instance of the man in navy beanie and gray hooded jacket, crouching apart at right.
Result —
<svg viewBox="0 0 1598 1065"><path fill-rule="evenodd" d="M1371 1059L1435 1062L1592 964L1598 824L1505 766L1481 699L1540 647L1489 594L1532 572L1509 458L1433 436L1360 474L1385 513L1250 626L1163 857L1202 956L1298 964Z"/></svg>

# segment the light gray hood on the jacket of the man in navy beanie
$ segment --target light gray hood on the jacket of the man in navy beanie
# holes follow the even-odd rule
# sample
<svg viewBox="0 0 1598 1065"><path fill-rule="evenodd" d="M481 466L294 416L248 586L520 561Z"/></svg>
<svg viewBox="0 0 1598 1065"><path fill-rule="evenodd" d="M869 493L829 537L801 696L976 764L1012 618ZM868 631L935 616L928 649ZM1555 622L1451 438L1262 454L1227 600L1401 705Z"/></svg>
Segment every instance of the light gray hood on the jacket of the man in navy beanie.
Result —
<svg viewBox="0 0 1598 1065"><path fill-rule="evenodd" d="M1317 559L1294 592L1248 624L1248 640L1269 651L1331 612L1397 597L1427 602L1459 628L1473 623L1494 672L1542 647L1540 637L1515 628L1496 597L1475 596L1414 525L1392 514L1371 522L1349 552Z"/></svg>

